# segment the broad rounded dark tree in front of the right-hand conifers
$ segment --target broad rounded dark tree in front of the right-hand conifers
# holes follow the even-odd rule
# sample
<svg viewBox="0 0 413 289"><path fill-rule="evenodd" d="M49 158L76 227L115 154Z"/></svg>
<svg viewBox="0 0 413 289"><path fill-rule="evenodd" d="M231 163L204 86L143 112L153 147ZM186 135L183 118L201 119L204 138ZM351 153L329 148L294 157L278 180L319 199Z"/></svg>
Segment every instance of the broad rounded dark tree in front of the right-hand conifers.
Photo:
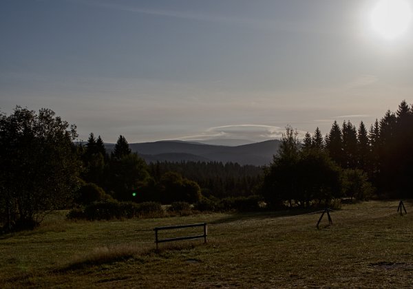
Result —
<svg viewBox="0 0 413 289"><path fill-rule="evenodd" d="M266 202L273 208L284 206L285 201L290 206L293 202L309 206L313 200L327 203L339 197L339 167L322 148L301 148L291 131L287 128L278 155L264 173L262 195Z"/></svg>

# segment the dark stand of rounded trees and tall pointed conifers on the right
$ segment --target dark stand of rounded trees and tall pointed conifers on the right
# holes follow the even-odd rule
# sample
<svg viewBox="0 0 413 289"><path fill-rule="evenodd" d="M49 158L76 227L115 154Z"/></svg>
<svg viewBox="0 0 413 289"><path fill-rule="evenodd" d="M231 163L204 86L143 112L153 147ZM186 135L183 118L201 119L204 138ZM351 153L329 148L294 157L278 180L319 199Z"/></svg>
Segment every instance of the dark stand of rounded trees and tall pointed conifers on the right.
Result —
<svg viewBox="0 0 413 289"><path fill-rule="evenodd" d="M274 206L285 202L309 206L335 197L364 200L377 197L410 197L413 173L413 107L405 100L394 113L366 128L350 120L341 127L333 122L322 136L319 128L298 140L297 131L286 128L273 162L266 168L262 195Z"/></svg>

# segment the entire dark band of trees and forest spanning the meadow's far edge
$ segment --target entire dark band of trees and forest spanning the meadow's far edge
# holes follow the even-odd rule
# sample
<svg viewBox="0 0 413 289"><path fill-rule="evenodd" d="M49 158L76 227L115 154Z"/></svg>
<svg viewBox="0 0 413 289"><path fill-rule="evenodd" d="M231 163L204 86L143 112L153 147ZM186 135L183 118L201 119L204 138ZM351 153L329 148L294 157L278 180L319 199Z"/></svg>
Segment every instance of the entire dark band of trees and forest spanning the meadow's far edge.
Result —
<svg viewBox="0 0 413 289"><path fill-rule="evenodd" d="M313 206L339 197L410 197L413 108L405 101L368 129L335 121L299 140L286 128L267 167L221 162L146 164L124 136L75 142L76 126L50 109L0 114L0 223L32 228L47 212L96 202L187 202L198 208ZM251 197L259 195L258 197ZM231 199L230 198L245 199ZM218 204L218 200L224 200ZM255 202L251 205L250 202ZM117 208L127 205L116 206ZM154 208L155 206L149 205Z"/></svg>

